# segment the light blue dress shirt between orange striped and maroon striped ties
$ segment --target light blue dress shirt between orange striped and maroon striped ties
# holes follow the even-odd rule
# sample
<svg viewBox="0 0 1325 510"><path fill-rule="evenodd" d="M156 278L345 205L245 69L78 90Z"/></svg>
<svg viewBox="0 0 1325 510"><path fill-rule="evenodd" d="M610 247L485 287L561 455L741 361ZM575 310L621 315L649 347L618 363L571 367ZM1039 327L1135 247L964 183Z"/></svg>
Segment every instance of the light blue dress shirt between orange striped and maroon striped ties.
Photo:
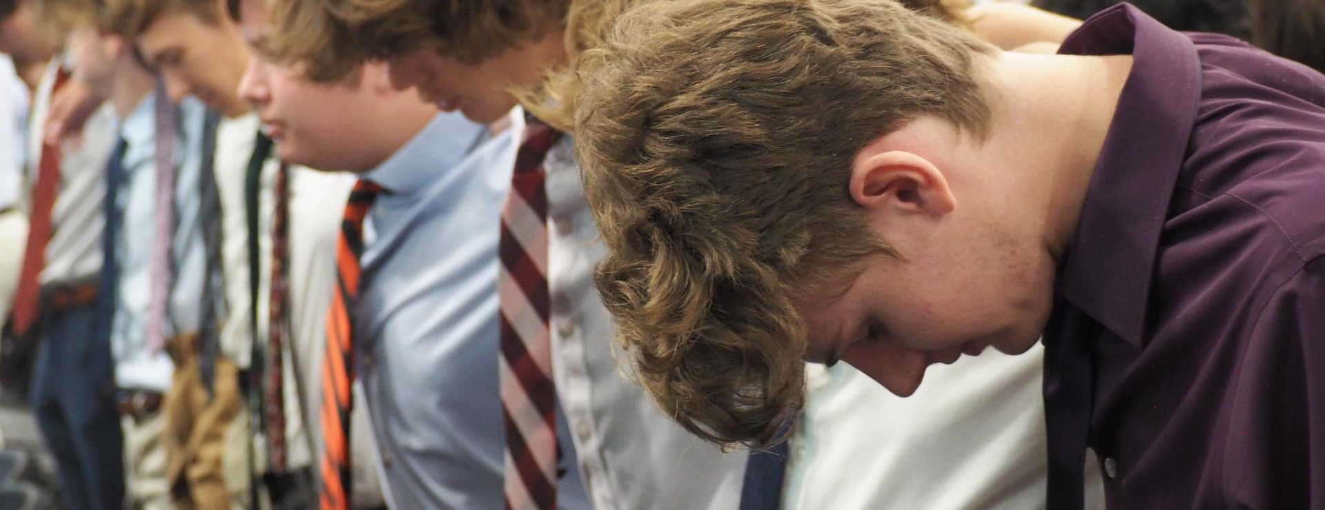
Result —
<svg viewBox="0 0 1325 510"><path fill-rule="evenodd" d="M439 114L364 176L387 192L364 221L355 342L394 509L502 507L497 241L511 131L470 151L484 127ZM590 509L558 417L558 506Z"/></svg>

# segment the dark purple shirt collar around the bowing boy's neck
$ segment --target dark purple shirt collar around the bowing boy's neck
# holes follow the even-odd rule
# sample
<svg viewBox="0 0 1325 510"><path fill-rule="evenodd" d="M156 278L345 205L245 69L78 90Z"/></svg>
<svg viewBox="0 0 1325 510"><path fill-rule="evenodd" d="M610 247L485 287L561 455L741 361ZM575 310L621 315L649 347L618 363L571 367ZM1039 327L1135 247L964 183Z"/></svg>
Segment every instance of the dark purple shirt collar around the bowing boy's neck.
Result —
<svg viewBox="0 0 1325 510"><path fill-rule="evenodd" d="M1133 56L1057 291L1140 347L1155 250L1200 97L1196 49L1118 4L1086 20L1059 53Z"/></svg>

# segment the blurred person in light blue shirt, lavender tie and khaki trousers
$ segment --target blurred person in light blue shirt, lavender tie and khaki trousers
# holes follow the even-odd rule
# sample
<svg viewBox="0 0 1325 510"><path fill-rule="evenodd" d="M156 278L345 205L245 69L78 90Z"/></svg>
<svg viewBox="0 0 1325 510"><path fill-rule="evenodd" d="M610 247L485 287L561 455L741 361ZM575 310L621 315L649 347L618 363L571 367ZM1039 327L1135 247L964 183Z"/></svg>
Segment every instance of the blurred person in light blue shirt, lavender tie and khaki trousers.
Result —
<svg viewBox="0 0 1325 510"><path fill-rule="evenodd" d="M174 509L166 477L162 401L172 392L171 338L196 334L207 290L200 193L204 109L176 109L132 42L111 32L95 3L52 4L68 25L73 78L111 106L118 142L107 164L102 294L125 438L125 484L132 509ZM168 185L168 189L162 189ZM162 211L168 207L170 211ZM203 297L200 299L199 297ZM106 299L109 298L109 299Z"/></svg>

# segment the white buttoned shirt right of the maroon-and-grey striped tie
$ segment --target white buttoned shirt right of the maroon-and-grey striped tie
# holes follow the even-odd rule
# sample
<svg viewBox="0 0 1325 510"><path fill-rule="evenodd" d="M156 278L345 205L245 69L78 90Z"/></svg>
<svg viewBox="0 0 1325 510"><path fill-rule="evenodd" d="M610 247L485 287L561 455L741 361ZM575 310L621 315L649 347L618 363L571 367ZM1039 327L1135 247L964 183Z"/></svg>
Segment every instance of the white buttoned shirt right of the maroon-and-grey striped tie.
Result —
<svg viewBox="0 0 1325 510"><path fill-rule="evenodd" d="M553 146L545 164L553 371L594 506L737 509L749 454L725 454L685 432L621 376L613 354L616 329L594 286L604 246L584 199L571 136Z"/></svg>

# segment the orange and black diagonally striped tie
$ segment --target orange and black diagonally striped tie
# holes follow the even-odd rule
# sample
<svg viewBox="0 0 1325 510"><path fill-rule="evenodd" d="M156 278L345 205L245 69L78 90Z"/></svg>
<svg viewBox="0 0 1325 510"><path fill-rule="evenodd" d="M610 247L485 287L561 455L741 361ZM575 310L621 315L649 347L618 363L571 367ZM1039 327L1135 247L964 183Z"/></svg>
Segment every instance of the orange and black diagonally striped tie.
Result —
<svg viewBox="0 0 1325 510"><path fill-rule="evenodd" d="M382 187L359 180L344 204L341 242L337 244L338 287L327 311L327 346L322 358L322 465L318 495L321 510L350 509L350 384L354 383L354 343L350 305L359 295L359 256L363 254L363 217Z"/></svg>

